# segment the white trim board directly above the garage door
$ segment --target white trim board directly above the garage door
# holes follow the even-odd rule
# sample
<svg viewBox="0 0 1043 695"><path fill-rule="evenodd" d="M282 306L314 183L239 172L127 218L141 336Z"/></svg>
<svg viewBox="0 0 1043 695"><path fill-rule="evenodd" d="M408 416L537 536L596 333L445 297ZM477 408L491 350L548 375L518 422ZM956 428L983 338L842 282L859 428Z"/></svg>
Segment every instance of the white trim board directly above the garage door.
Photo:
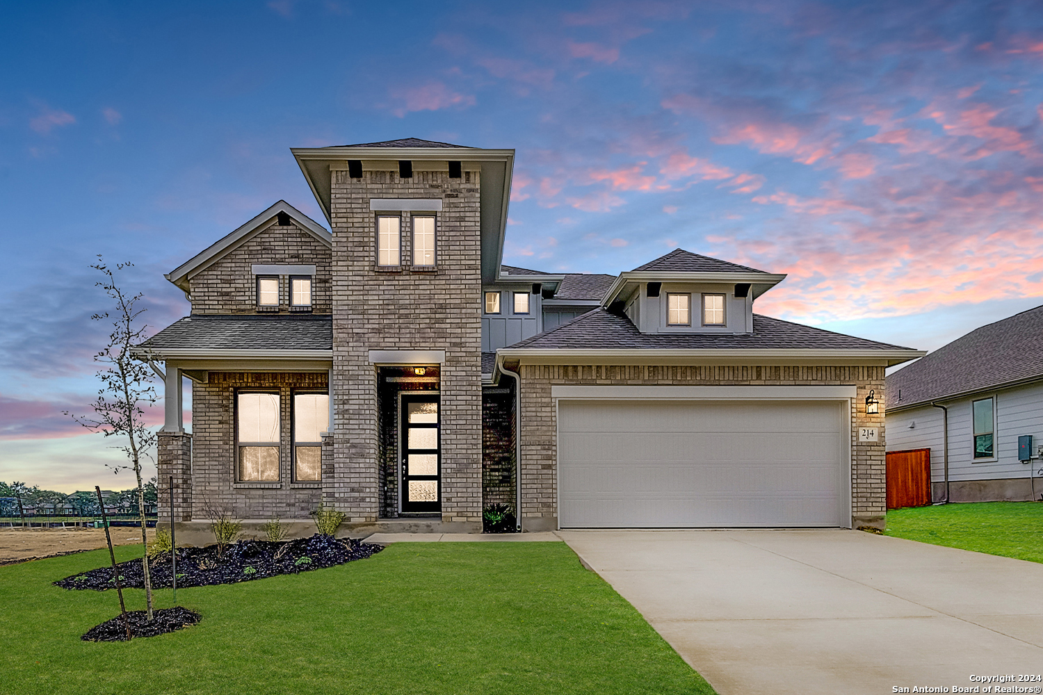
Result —
<svg viewBox="0 0 1043 695"><path fill-rule="evenodd" d="M848 400L849 386L552 386L554 400Z"/></svg>

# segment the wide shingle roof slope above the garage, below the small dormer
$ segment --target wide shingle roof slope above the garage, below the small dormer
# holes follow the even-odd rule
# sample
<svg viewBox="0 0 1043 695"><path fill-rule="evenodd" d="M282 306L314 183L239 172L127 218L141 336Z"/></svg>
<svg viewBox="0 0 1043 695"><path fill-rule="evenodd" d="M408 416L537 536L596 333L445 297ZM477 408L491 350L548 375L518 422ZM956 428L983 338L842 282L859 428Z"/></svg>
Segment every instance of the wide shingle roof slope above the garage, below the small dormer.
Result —
<svg viewBox="0 0 1043 695"><path fill-rule="evenodd" d="M626 316L597 308L510 348L587 350L670 349L822 349L907 350L898 345L834 333L799 323L753 315L752 333L642 333Z"/></svg>

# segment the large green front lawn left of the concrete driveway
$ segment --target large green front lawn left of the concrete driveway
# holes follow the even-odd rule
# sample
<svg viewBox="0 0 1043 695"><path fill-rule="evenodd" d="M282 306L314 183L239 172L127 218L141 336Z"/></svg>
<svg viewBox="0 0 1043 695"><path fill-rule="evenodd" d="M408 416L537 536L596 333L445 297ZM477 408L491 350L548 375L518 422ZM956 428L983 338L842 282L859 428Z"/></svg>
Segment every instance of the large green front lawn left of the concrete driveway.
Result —
<svg viewBox="0 0 1043 695"><path fill-rule="evenodd" d="M7 692L713 692L563 543L394 544L296 576L180 590L198 625L82 642L119 613L116 593L50 582L106 563L97 550L0 567ZM143 591L127 595L128 610L144 607ZM156 595L171 605L169 590Z"/></svg>

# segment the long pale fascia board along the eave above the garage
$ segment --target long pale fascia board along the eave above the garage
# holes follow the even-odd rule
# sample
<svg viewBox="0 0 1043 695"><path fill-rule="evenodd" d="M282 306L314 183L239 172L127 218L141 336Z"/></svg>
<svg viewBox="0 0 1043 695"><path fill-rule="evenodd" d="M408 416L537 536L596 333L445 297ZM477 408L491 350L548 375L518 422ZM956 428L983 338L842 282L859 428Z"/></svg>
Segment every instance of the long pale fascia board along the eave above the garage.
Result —
<svg viewBox="0 0 1043 695"><path fill-rule="evenodd" d="M707 350L500 348L496 365L859 365L890 367L921 357L923 350Z"/></svg>

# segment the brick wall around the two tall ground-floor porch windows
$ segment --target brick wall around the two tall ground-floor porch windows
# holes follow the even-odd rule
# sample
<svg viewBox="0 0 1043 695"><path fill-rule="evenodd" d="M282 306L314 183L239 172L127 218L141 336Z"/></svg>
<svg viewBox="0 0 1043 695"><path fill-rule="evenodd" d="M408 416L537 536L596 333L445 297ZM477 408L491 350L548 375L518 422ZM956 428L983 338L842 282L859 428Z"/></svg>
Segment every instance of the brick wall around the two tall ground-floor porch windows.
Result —
<svg viewBox="0 0 1043 695"><path fill-rule="evenodd" d="M193 384L193 519L205 519L209 506L226 507L242 519L309 518L318 506L325 480L291 480L292 394L295 389L325 391L326 381L325 372L210 372L207 383ZM236 482L235 399L239 389L265 389L280 394L277 482ZM325 466L322 473L325 476Z"/></svg>

